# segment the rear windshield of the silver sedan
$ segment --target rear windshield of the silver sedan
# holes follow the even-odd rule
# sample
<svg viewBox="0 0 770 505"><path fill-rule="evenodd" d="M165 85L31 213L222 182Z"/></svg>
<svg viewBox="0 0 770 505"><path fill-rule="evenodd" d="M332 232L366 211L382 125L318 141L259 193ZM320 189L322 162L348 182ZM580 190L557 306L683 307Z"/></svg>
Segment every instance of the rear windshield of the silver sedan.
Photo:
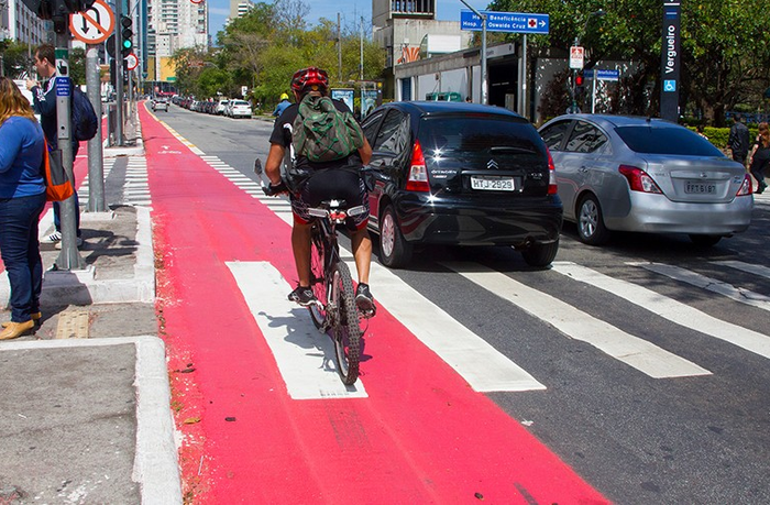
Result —
<svg viewBox="0 0 770 505"><path fill-rule="evenodd" d="M686 128L618 127L617 134L637 153L723 156L714 144Z"/></svg>

